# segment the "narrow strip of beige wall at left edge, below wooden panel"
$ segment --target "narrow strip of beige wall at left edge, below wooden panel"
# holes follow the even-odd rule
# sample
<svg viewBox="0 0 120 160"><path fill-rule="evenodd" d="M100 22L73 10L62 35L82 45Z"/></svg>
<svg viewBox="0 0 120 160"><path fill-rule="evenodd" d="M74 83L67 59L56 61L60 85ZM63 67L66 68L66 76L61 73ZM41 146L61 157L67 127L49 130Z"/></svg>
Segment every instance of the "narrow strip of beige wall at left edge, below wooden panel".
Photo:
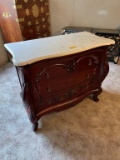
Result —
<svg viewBox="0 0 120 160"><path fill-rule="evenodd" d="M7 61L8 61L8 56L7 56L7 52L4 48L3 37L2 37L1 31L0 31L0 66L5 64Z"/></svg>

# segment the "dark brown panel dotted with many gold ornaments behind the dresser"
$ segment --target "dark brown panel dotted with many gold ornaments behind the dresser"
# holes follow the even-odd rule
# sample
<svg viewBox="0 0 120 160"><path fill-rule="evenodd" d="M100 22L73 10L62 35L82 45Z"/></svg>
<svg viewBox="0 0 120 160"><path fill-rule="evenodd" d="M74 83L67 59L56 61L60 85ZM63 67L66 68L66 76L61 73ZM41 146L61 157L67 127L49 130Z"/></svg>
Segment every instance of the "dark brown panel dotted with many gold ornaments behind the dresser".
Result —
<svg viewBox="0 0 120 160"><path fill-rule="evenodd" d="M23 40L50 36L48 0L15 0Z"/></svg>

